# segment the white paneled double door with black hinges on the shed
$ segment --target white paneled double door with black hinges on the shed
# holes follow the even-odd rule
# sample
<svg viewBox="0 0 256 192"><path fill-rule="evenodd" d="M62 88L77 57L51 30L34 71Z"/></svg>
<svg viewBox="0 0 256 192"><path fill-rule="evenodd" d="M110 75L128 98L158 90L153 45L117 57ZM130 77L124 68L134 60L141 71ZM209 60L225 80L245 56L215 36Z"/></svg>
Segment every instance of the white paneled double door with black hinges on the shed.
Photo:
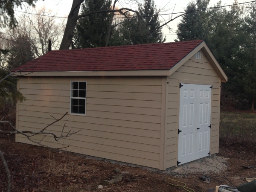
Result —
<svg viewBox="0 0 256 192"><path fill-rule="evenodd" d="M209 156L211 87L180 84L178 165Z"/></svg>

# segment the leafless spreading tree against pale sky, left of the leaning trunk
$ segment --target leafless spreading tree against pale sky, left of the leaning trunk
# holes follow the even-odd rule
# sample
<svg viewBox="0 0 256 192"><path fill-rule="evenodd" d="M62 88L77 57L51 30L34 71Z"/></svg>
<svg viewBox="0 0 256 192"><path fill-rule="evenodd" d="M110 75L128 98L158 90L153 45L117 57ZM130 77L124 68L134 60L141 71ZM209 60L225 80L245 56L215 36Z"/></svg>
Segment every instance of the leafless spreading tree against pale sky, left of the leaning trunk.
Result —
<svg viewBox="0 0 256 192"><path fill-rule="evenodd" d="M17 18L19 25L16 28L6 29L9 38L17 41L19 36L26 36L37 57L47 53L49 39L52 40L52 50L59 49L65 20L59 22L56 13L45 7L26 10L28 13Z"/></svg>

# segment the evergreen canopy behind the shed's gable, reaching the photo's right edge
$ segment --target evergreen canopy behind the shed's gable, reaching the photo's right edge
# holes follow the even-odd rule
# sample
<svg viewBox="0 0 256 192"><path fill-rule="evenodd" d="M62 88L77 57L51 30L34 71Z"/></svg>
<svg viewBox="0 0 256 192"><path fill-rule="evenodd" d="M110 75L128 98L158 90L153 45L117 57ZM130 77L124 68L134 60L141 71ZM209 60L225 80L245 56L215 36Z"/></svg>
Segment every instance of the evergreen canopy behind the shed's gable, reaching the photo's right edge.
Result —
<svg viewBox="0 0 256 192"><path fill-rule="evenodd" d="M209 0L202 0L197 5L198 12L183 15L177 25L176 41L204 39L227 73L229 80L223 87L228 87L240 99L252 102L253 106L256 99L255 2L249 6L249 12L239 5L230 9L204 9L208 4ZM189 3L185 11L191 6L193 3ZM221 1L215 5L219 6Z"/></svg>

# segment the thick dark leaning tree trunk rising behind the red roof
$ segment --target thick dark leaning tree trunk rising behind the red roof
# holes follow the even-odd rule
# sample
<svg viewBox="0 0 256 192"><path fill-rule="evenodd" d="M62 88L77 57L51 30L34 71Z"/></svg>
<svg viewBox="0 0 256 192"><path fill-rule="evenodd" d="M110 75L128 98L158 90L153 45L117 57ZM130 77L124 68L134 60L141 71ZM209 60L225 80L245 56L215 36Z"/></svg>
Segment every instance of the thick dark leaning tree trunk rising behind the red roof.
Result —
<svg viewBox="0 0 256 192"><path fill-rule="evenodd" d="M81 6L81 0L73 0L70 14L67 17L67 24L65 27L62 41L61 41L60 50L70 48L72 38L73 38L74 29L76 26L76 21L78 19L77 16L79 13L80 6Z"/></svg>

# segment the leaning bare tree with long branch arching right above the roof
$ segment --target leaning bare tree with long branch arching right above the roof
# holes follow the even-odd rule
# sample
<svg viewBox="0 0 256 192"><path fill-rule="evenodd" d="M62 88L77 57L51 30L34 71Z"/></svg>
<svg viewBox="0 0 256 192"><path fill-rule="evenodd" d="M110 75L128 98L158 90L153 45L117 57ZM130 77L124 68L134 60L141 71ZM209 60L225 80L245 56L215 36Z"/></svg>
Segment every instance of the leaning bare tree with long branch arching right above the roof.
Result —
<svg viewBox="0 0 256 192"><path fill-rule="evenodd" d="M200 0L196 1L195 6L198 4L199 1ZM121 14L124 17L126 17L127 19L129 19L128 14L132 12L132 13L137 15L138 31L139 31L140 37L143 39L145 36L149 35L154 30L157 30L157 29L159 29L163 26L166 26L172 20L175 20L176 18L181 17L182 15L188 14L188 13L194 11L194 9L195 9L195 6L194 6L193 9L191 9L189 12L180 14L180 15L174 17L174 18L171 17L169 20L166 20L161 26L159 26L159 27L155 28L154 30L148 32L147 34L143 34L142 29L141 29L142 17L140 15L140 13L137 12L136 10L129 9L129 8L114 9L114 6L113 6L113 9L98 10L98 11L88 12L88 13L79 15L79 9L80 9L81 3L83 3L83 2L84 2L84 0L73 0L73 4L72 4L71 10L70 10L70 14L68 15L68 18L67 18L67 24L66 24L66 28L65 28L65 32L64 32L62 41L61 41L60 49L69 49L70 48L70 45L72 43L72 38L73 38L73 32L74 32L74 29L75 29L75 26L76 26L76 21L79 20L80 18L87 17L87 16L92 15L92 14L96 14L96 13L115 13L115 12L117 13L118 12L119 14ZM130 0L129 2L131 3L133 1ZM134 0L134 3L135 2L136 2L136 4L138 4L138 2L136 0ZM116 3L116 0L114 1L114 3ZM112 23L112 20L111 20L111 23Z"/></svg>

